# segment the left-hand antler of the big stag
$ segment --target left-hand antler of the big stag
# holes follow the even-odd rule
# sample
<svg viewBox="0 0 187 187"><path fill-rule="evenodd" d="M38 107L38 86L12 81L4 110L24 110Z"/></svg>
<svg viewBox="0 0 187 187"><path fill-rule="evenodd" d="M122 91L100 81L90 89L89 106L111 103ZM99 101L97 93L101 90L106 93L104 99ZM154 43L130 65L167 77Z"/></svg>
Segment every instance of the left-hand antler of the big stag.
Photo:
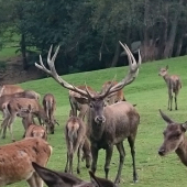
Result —
<svg viewBox="0 0 187 187"><path fill-rule="evenodd" d="M62 77L58 76L58 74L56 73L56 69L55 69L55 59L56 59L56 56L57 56L57 53L59 51L59 46L56 48L56 52L55 54L53 55L53 57L51 57L51 54L52 54L52 48L53 48L53 45L51 45L50 47L50 51L48 51L48 55L47 55L47 64L48 64L48 67L50 69L47 69L45 66L44 66L44 63L42 61L42 56L40 55L40 65L37 63L35 63L35 66L42 70L44 70L46 74L51 75L59 85L62 85L64 88L67 88L72 91L75 91L75 92L78 92L80 94L81 96L85 96L87 98L90 98L90 97L94 97L90 92L88 91L85 91L82 89L79 89L70 84L68 84L67 81L65 81Z"/></svg>

